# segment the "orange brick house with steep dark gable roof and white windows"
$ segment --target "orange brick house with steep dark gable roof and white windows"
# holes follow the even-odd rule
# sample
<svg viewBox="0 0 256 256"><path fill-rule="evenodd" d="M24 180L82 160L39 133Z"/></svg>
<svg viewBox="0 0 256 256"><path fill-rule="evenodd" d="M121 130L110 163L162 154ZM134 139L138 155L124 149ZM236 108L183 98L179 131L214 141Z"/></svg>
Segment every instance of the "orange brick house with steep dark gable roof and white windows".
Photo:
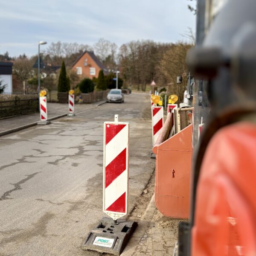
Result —
<svg viewBox="0 0 256 256"><path fill-rule="evenodd" d="M104 74L108 74L108 70L102 64L102 62L94 55L93 52L85 51L72 65L72 70L74 70L79 77L98 78L99 71L103 70Z"/></svg>

